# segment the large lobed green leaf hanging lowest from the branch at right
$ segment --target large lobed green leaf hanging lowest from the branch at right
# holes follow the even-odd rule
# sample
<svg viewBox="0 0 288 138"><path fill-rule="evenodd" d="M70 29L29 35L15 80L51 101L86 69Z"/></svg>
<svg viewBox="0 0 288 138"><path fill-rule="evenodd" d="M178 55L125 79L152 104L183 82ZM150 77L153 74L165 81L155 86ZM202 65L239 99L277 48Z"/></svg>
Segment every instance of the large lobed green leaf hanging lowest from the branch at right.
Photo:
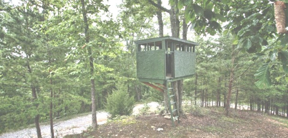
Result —
<svg viewBox="0 0 288 138"><path fill-rule="evenodd" d="M260 89L267 88L272 85L270 78L269 63L264 63L254 74L255 79L258 79L255 82L256 86Z"/></svg>

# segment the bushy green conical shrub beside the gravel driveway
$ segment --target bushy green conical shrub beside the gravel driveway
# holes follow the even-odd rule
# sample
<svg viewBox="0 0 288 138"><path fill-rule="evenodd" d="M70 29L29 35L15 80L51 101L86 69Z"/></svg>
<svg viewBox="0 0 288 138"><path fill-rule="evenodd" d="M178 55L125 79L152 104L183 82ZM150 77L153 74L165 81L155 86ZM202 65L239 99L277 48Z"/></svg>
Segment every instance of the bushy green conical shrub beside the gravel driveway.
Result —
<svg viewBox="0 0 288 138"><path fill-rule="evenodd" d="M127 86L117 84L116 90L112 91L107 97L105 104L106 111L114 118L116 115L130 115L135 104L134 96L130 96L127 92Z"/></svg>

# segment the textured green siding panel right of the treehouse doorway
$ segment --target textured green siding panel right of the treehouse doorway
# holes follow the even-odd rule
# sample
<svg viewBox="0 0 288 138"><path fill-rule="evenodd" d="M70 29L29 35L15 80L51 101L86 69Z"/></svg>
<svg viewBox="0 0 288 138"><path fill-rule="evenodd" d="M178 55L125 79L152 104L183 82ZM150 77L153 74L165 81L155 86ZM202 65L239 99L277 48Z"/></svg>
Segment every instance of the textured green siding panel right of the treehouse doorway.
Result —
<svg viewBox="0 0 288 138"><path fill-rule="evenodd" d="M195 74L195 53L174 51L174 57L175 78Z"/></svg>

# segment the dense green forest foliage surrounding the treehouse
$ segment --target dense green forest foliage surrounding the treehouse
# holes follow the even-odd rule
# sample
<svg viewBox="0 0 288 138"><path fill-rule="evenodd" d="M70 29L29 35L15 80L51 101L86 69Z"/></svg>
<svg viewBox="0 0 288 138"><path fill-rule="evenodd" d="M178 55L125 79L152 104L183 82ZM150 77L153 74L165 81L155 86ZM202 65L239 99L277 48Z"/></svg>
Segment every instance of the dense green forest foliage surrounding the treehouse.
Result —
<svg viewBox="0 0 288 138"><path fill-rule="evenodd" d="M200 44L183 102L287 117L288 35L276 33L273 2L169 0L177 24L186 25L178 31ZM134 44L158 36L159 12L164 28L173 27L173 9L161 0L123 0L117 17L96 0L14 4L0 1L0 133L90 112L93 100L112 116L130 114L134 99L163 101L136 79Z"/></svg>

